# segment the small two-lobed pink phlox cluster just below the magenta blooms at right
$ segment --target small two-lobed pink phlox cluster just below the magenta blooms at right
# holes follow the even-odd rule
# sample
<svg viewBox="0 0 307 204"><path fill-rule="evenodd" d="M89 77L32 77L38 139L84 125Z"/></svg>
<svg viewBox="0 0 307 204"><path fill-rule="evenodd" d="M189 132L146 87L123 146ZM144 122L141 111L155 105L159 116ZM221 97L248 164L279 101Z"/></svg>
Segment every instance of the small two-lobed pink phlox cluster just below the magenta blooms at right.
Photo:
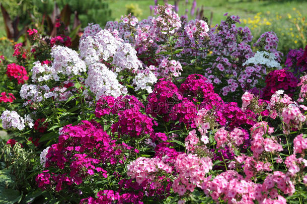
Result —
<svg viewBox="0 0 307 204"><path fill-rule="evenodd" d="M214 134L216 148L224 148L225 145L229 148L229 152L233 153L234 149L238 149L243 144L245 133L242 129L235 128L231 132L225 130L224 127L218 129Z"/></svg>

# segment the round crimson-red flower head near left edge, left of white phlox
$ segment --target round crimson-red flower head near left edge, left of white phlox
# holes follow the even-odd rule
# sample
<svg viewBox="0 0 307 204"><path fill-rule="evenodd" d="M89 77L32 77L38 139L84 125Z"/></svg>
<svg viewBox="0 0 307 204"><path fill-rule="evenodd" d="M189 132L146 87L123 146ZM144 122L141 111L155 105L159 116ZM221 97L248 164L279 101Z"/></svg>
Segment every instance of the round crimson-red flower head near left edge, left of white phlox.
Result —
<svg viewBox="0 0 307 204"><path fill-rule="evenodd" d="M18 84L24 84L29 79L25 67L16 63L8 64L6 74L11 80L16 79Z"/></svg>

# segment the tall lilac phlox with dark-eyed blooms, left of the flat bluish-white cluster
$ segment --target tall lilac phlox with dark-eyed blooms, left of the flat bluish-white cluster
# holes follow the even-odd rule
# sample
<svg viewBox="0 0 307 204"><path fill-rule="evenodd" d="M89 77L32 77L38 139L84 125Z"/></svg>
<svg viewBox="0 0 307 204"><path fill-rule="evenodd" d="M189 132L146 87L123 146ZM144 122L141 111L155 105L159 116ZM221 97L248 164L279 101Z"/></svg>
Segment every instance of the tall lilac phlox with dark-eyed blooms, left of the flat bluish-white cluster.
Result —
<svg viewBox="0 0 307 204"><path fill-rule="evenodd" d="M239 19L236 16L227 16L226 21L221 21L219 26L212 28L209 35L208 48L216 57L204 75L214 84L226 84L222 88L224 96L237 89L247 91L255 87L261 75L266 73L265 67L261 65L242 69L243 63L254 56L254 53L248 44L252 40L251 32L248 27L236 26L236 23L240 23ZM231 77L221 77L225 75Z"/></svg>

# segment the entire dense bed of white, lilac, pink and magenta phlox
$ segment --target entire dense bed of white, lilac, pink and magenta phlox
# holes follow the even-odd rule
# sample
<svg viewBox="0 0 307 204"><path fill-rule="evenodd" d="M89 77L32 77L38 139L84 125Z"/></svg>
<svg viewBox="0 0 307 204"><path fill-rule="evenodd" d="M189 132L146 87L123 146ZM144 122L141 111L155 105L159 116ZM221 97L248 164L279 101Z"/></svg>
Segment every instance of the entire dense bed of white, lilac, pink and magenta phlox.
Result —
<svg viewBox="0 0 307 204"><path fill-rule="evenodd" d="M305 51L284 65L276 34L254 52L237 16L209 28L168 4L155 15L89 24L78 50L30 29L31 51L18 44L16 62L3 59L1 120L13 134L0 160L17 148L36 157L23 192L70 203L307 201Z"/></svg>

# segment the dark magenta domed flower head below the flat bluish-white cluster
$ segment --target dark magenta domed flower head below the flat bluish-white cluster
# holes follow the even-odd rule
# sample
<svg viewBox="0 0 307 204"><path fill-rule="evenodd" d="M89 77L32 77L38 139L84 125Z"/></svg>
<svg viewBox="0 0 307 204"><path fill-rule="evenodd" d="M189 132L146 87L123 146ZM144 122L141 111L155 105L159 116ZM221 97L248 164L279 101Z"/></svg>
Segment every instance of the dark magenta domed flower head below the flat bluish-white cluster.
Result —
<svg viewBox="0 0 307 204"><path fill-rule="evenodd" d="M284 90L292 97L295 92L298 80L293 73L287 70L274 70L265 77L266 87L264 88L263 98L269 100L277 90Z"/></svg>

